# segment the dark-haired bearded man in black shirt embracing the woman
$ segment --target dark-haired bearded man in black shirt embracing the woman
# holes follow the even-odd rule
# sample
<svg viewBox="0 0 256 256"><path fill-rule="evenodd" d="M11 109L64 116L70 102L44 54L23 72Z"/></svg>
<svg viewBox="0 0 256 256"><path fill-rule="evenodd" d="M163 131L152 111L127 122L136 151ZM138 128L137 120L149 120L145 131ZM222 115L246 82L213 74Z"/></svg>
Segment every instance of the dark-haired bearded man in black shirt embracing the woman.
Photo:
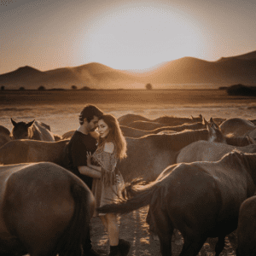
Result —
<svg viewBox="0 0 256 256"><path fill-rule="evenodd" d="M93 154L97 148L96 137L93 133L98 126L98 120L102 115L102 110L94 105L86 105L79 115L79 128L74 132L73 137L67 146L67 169L80 177L89 189L92 187L93 174L90 176L81 174L86 173L87 152ZM100 253L91 247L90 230L86 241L83 244L84 255L99 256Z"/></svg>

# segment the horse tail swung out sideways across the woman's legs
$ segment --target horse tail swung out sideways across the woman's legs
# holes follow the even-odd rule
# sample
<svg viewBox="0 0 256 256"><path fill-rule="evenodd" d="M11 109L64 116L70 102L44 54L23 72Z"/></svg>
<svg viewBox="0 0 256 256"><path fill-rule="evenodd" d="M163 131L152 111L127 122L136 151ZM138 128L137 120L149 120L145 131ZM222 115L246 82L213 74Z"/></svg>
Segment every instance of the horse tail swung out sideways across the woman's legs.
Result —
<svg viewBox="0 0 256 256"><path fill-rule="evenodd" d="M137 210L138 208L148 206L156 190L160 189L157 184L157 182L154 182L148 185L137 185L136 188L132 189L133 197L129 199L119 199L112 204L97 208L97 211L102 213L112 212L125 214Z"/></svg>

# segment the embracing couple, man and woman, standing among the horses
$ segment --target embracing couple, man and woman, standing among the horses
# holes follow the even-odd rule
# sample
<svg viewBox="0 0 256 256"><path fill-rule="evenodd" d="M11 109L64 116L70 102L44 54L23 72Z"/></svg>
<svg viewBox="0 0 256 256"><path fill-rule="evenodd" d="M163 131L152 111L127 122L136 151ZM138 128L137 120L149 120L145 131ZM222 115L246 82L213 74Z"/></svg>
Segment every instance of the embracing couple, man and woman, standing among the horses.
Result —
<svg viewBox="0 0 256 256"><path fill-rule="evenodd" d="M98 128L98 132L95 131ZM126 157L125 137L118 120L94 105L86 105L79 115L79 128L68 143L68 169L80 177L92 191L96 207L115 200L124 188L124 180L116 165ZM119 239L119 224L113 213L94 212L108 230L108 256L126 256L130 243ZM84 255L101 255L91 247L90 230L83 244Z"/></svg>

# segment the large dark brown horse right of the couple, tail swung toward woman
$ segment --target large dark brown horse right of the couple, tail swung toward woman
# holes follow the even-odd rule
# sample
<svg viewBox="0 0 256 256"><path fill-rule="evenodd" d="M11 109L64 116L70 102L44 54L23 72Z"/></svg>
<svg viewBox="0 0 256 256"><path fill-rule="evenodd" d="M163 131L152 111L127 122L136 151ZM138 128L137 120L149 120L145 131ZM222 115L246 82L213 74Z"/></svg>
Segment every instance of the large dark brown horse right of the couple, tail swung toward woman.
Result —
<svg viewBox="0 0 256 256"><path fill-rule="evenodd" d="M236 230L241 203L254 194L255 169L256 154L237 150L218 161L168 166L153 183L135 187L130 199L98 211L126 213L149 205L163 256L172 255L174 229L183 236L180 255L195 256L208 237L218 237L218 256L225 236Z"/></svg>

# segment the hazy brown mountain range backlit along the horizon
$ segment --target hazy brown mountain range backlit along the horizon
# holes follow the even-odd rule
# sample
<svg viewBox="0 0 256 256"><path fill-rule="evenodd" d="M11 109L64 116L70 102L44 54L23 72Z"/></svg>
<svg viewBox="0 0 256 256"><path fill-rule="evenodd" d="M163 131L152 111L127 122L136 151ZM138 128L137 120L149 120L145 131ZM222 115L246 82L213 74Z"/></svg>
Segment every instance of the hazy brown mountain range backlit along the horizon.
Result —
<svg viewBox="0 0 256 256"><path fill-rule="evenodd" d="M84 86L90 89L144 89L148 83L153 89L170 89L176 85L202 89L232 84L256 85L256 50L218 61L183 57L163 62L145 72L118 70L92 62L44 72L26 66L0 75L0 86L9 90L19 90L20 87L37 90L39 86L71 89L73 85L78 89Z"/></svg>

